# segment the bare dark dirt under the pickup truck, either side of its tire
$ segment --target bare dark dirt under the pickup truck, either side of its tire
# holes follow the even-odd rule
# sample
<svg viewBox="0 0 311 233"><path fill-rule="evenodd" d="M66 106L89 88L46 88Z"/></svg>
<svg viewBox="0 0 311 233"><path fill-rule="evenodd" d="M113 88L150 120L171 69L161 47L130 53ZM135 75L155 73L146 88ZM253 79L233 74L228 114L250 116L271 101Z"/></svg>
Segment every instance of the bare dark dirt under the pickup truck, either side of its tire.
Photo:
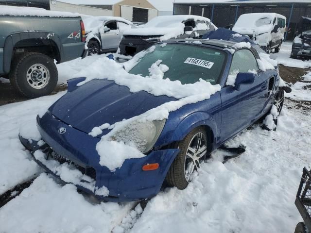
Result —
<svg viewBox="0 0 311 233"><path fill-rule="evenodd" d="M67 90L67 85L57 85L51 95L64 90ZM29 99L19 94L10 83L0 83L0 106L24 100Z"/></svg>

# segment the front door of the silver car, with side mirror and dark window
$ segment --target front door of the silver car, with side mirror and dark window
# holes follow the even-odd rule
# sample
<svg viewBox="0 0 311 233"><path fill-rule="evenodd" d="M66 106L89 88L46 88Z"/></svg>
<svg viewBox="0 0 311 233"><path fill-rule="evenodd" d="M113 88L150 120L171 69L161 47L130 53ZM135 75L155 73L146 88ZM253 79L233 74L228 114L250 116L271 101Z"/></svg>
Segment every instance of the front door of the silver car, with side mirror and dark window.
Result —
<svg viewBox="0 0 311 233"><path fill-rule="evenodd" d="M106 31L105 29L110 29ZM117 26L117 21L112 20L104 24L104 33L101 33L102 48L107 49L117 49L120 44L120 32Z"/></svg>

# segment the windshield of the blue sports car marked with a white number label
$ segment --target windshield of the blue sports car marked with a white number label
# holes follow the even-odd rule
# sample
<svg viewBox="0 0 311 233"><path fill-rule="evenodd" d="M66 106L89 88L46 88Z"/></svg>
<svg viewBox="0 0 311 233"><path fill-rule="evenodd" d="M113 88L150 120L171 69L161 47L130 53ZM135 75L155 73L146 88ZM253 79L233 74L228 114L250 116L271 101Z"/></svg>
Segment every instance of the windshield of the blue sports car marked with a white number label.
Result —
<svg viewBox="0 0 311 233"><path fill-rule="evenodd" d="M196 83L203 79L211 84L219 83L219 77L225 61L222 50L203 46L181 44L156 45L153 52L147 53L129 73L149 76L152 65L165 65L164 79L179 80L182 84ZM162 62L159 63L158 60Z"/></svg>

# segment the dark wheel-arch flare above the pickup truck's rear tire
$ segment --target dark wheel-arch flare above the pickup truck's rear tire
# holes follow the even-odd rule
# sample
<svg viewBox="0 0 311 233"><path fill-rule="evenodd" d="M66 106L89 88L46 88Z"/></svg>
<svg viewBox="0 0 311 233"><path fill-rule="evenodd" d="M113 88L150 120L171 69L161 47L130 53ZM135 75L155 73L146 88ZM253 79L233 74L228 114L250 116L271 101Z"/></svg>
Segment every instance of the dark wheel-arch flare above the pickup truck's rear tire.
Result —
<svg viewBox="0 0 311 233"><path fill-rule="evenodd" d="M56 44L58 52L60 54L60 58L62 57L63 53L63 45L60 41L60 37L58 34L53 32L44 32L44 31L35 31L35 32L18 32L12 33L8 35L4 42L3 48L3 70L5 73L10 72L11 68L11 60L13 56L13 49L15 45L26 39L42 39L42 40L52 40L53 43Z"/></svg>

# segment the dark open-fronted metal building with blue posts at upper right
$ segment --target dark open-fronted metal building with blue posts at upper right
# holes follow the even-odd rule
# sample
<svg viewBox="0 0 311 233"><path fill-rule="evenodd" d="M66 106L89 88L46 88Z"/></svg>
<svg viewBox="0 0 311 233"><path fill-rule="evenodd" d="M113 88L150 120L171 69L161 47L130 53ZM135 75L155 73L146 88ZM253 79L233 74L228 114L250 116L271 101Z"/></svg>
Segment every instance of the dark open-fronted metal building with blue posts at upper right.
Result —
<svg viewBox="0 0 311 233"><path fill-rule="evenodd" d="M273 12L286 17L285 39L293 39L302 16L311 16L311 0L175 0L173 15L197 15L210 18L218 27L234 24L247 13Z"/></svg>

